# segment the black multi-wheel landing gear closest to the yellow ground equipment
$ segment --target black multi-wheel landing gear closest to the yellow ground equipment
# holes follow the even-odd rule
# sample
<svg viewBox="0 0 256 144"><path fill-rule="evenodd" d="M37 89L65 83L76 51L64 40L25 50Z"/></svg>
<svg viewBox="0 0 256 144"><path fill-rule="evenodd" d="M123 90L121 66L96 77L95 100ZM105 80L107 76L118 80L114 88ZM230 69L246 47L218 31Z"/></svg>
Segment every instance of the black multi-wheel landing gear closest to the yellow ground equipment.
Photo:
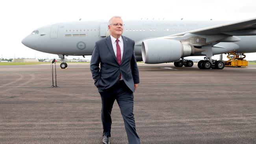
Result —
<svg viewBox="0 0 256 144"><path fill-rule="evenodd" d="M204 57L204 60L201 60L197 63L198 68L200 69L223 69L225 63L223 61L211 60L210 58Z"/></svg>

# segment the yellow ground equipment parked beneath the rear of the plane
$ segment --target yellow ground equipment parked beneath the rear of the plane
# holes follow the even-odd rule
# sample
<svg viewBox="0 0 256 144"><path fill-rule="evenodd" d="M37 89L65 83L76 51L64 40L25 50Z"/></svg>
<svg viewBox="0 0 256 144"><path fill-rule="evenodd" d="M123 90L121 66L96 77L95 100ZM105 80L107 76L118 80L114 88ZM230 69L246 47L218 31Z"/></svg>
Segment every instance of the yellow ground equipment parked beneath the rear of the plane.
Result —
<svg viewBox="0 0 256 144"><path fill-rule="evenodd" d="M245 54L231 53L227 55L228 61L225 61L225 66L241 67L248 66L248 61L245 60Z"/></svg>

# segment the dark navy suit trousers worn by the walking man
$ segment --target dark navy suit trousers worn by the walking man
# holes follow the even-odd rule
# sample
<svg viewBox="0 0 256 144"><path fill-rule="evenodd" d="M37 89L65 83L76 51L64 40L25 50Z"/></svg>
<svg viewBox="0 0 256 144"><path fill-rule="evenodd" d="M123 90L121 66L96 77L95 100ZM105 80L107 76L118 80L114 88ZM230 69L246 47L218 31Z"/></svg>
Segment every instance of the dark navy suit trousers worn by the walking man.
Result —
<svg viewBox="0 0 256 144"><path fill-rule="evenodd" d="M113 103L115 102L115 100L117 100L124 120L124 127L126 130L129 144L140 144L140 139L135 129L135 120L133 113L133 92L126 86L126 84L122 80L110 89L98 89L98 91L102 100L101 119L103 125L103 135L111 137L111 111Z"/></svg>

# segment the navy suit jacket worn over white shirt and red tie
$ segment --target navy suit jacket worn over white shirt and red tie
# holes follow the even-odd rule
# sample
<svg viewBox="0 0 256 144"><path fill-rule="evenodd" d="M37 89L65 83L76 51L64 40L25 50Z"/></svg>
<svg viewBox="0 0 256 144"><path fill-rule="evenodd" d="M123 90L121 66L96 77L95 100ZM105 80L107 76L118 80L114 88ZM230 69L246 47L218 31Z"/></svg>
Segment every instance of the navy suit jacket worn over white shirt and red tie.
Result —
<svg viewBox="0 0 256 144"><path fill-rule="evenodd" d="M91 57L90 69L95 80L95 86L104 90L113 87L119 81L120 72L126 85L134 92L134 83L139 83L134 44L128 37L122 36L124 51L121 65L118 64L110 36L95 43ZM99 67L100 64L100 67Z"/></svg>

